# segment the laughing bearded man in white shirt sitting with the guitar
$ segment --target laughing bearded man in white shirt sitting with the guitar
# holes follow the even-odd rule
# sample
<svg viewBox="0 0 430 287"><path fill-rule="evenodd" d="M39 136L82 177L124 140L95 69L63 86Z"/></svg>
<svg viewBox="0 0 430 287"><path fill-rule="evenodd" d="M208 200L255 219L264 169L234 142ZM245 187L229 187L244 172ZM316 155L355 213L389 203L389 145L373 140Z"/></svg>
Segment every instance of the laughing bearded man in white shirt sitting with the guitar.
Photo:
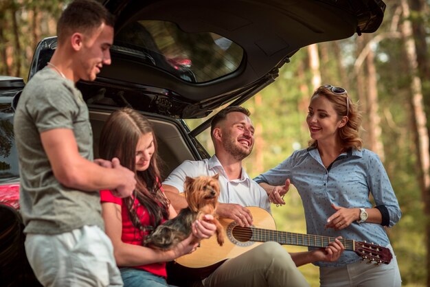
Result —
<svg viewBox="0 0 430 287"><path fill-rule="evenodd" d="M163 182L163 189L174 209L187 207L183 196L185 176L220 174L220 204L216 212L241 226L252 225L247 206L258 206L270 212L267 193L252 181L242 168L242 159L252 151L254 128L249 111L229 106L212 119L211 136L215 155L203 161L184 161ZM223 247L220 247L223 248ZM344 247L339 240L325 249L299 253L286 252L276 242L265 242L238 257L221 264L202 280L204 286L308 286L296 266L315 261L335 261Z"/></svg>

